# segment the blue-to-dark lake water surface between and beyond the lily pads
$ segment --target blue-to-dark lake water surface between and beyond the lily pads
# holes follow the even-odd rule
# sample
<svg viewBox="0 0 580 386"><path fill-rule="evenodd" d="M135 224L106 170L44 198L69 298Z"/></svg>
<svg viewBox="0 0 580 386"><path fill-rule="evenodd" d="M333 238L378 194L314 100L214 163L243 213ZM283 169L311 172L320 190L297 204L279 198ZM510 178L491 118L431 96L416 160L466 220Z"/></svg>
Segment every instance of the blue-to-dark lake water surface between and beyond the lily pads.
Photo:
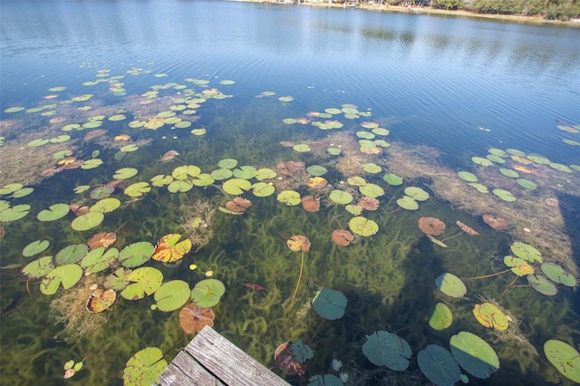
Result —
<svg viewBox="0 0 580 386"><path fill-rule="evenodd" d="M32 261L22 256L22 249L34 240L49 240L50 249L44 254L55 255L64 246L83 243L97 232L111 232L127 221L119 230L119 249L138 241L155 244L160 236L182 230L183 206L204 200L225 205L218 188L194 188L187 197L169 194L167 188L152 188L142 200L107 214L102 226L92 230L73 231L69 225L72 214L48 223L50 226L36 220L40 210L55 203L92 205L91 190L75 194L73 188L107 184L117 169L139 170L130 183L171 174L180 164L159 161L167 150L178 150L182 161L197 165L204 173L218 169L218 161L229 158L237 159L238 167L275 169L277 162L289 159L302 160L306 166L323 164L329 169L324 178L336 188L353 175L325 153L326 147L336 146L327 141L348 137L356 143L360 123L376 121L390 130L385 140L439 150L443 166L452 171L473 171L471 157L486 157L490 148L540 154L566 168L580 165L578 146L563 141L578 141L580 134L557 128L580 124L577 29L206 1L2 2L0 11L0 136L5 137L0 148L0 186L23 182L34 188L24 198L13 198L10 193L0 197L10 205L32 206L27 217L0 224L5 227L5 238L0 241L3 266L24 266ZM140 70L128 72L135 68ZM190 82L192 78L207 83ZM106 82L83 85L98 79ZM224 80L235 83L220 83ZM150 104L140 103L141 95L156 85L159 98ZM179 85L184 87L175 88ZM58 86L66 89L49 91ZM115 87L122 91L115 91ZM130 121L147 120L167 110L171 98L192 99L192 93L211 88L227 98L210 99L191 116L180 115L192 121L187 130L170 124L158 130L128 126ZM188 89L194 92L188 93ZM266 91L275 95L263 96ZM92 94L88 101L62 103L87 93ZM45 99L49 94L57 96ZM294 100L278 101L280 96ZM51 107L51 103L56 106ZM349 119L342 113L334 115L333 120L343 122L340 130L282 122L306 117L309 111L340 109L345 103L368 116ZM6 112L13 107L46 105L49 107L42 111ZM91 110L83 111L83 106ZM43 116L43 111L55 112ZM94 115L117 113L126 113L128 118L104 119L99 128L108 130L108 141L86 140L89 130L61 130L68 123L82 124ZM50 121L59 117L67 121ZM207 133L192 135L190 130L195 128ZM338 132L345 137L336 137ZM140 146L122 161L114 158L121 145L111 140L121 133L131 135L131 142ZM70 147L76 157L89 159L94 150L100 150L95 158L103 159L103 165L65 170L42 182L6 177L6 169L14 169L7 168L8 164L29 162L25 152L8 152L9 145L21 143L23 151L36 151L27 147L30 140L61 134L71 135ZM300 153L281 146L280 140L309 143L314 150ZM67 147L66 143L43 146ZM358 154L358 145L356 148ZM388 379L396 380L393 384L423 384L427 380L418 369L417 352L430 343L449 348L449 337L466 330L481 336L498 352L500 368L490 383L571 384L546 361L542 345L547 339L561 339L578 348L577 295L562 285L553 297L527 287L510 289L500 301L514 278L512 274L470 281L464 299L440 294L433 280L443 272L465 278L505 269L502 257L509 254L513 239L431 193L427 202L420 203L419 216L440 217L449 229L461 219L480 232L477 241L466 240L466 236L449 239L447 249L431 245L417 229L418 214L397 210L395 202L404 194L402 188L427 188L421 184L429 181L408 180L401 187L387 186L382 180L389 170L387 149L381 156L368 159L382 166L380 174L361 171L367 181L387 189L380 198L380 209L362 214L379 224L375 236L346 248L333 245L330 232L347 227L353 216L328 198L331 189L314 192L323 203L323 210L316 214L286 207L275 195L256 198L248 192L244 196L253 206L247 214L214 214L214 237L208 246L189 254L178 266L147 265L162 270L165 281L181 279L191 287L203 278L203 272L214 271L227 287L215 307L215 328L268 367L274 366L273 354L279 344L296 339L312 344L316 353L303 382L315 374L338 375L330 364L339 359L351 376L349 384ZM346 150L344 154L348 154ZM36 176L52 162L35 162L30 168L38 171L32 174ZM493 168L499 167L496 164ZM538 200L544 199L550 188L574 198L579 193L577 179L578 169L571 169L569 176L543 183L545 190L537 194ZM218 180L215 185L220 183ZM303 196L313 193L304 185L297 190ZM118 189L113 197L123 202L131 199L120 192ZM563 234L578 233L575 213L567 218ZM540 219L530 220L530 224L542 227ZM285 239L296 234L309 237L312 246L305 254L304 276L292 306L300 256L287 249ZM450 230L445 234L451 235ZM197 271L189 270L194 262ZM191 337L180 341L184 334L179 329L179 311L151 310L155 303L152 296L137 302L119 296L112 311L105 312L107 323L80 339L65 341L62 334L57 335L63 325L54 323L50 312L51 301L63 290L45 296L39 291L39 279L26 283L19 271L2 271L3 382L61 384L65 382L64 362L86 358L73 383L120 384L125 364L135 352L160 347L170 361ZM517 285L525 282L519 280ZM267 291L248 291L242 286L247 282L265 285ZM27 293L27 285L33 297ZM309 309L309 301L323 287L346 294L349 304L340 321L321 324L322 318ZM75 287L67 291L75 291ZM520 321L517 339L527 340L525 349L513 336L489 333L473 319L471 310L480 301L478 296L495 299ZM434 331L428 324L430 309L438 302L448 304L454 314L454 323L443 331ZM362 354L365 335L376 330L400 331L411 344L411 365L402 376L386 369L376 372ZM390 378L397 376L401 378ZM470 380L478 383L476 378ZM298 383L293 377L289 381Z"/></svg>

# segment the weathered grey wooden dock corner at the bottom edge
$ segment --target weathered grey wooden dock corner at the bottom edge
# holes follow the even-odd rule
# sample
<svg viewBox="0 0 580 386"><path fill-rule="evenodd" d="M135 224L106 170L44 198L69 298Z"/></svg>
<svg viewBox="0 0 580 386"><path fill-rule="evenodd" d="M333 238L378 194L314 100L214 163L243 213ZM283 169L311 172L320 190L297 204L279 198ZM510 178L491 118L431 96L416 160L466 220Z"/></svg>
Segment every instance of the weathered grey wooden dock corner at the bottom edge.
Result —
<svg viewBox="0 0 580 386"><path fill-rule="evenodd" d="M158 381L162 386L289 385L209 326L178 353Z"/></svg>

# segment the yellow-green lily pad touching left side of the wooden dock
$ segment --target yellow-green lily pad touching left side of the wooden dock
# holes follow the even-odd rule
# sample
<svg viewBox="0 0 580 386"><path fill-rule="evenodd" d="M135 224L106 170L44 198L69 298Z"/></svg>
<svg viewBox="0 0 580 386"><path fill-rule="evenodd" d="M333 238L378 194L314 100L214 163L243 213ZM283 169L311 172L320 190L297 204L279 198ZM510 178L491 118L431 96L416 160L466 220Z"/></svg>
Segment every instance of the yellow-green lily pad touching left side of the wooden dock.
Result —
<svg viewBox="0 0 580 386"><path fill-rule="evenodd" d="M157 382L161 373L167 368L163 352L157 347L147 347L135 352L127 361L123 371L124 386L150 385Z"/></svg>

